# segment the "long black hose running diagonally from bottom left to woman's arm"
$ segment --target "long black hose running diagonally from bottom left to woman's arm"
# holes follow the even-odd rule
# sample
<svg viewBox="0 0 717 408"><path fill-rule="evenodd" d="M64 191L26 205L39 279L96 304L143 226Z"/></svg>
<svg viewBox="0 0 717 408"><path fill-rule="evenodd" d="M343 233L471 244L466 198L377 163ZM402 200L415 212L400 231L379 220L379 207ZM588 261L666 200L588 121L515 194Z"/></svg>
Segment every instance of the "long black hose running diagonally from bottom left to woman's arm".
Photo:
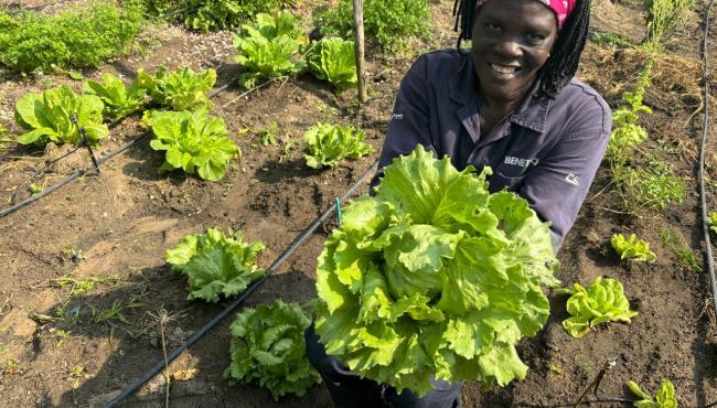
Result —
<svg viewBox="0 0 717 408"><path fill-rule="evenodd" d="M378 169L378 162L375 162L371 167L371 169L368 169L368 171L341 196L340 198L341 202L346 201L346 198L349 198L361 186L361 184L363 184L372 174L376 172L376 169ZM311 236L311 234L313 234L313 232L317 230L317 228L319 228L319 226L323 224L323 222L327 221L327 218L329 218L329 216L331 216L331 214L333 214L335 208L336 206L331 205L329 210L327 210L323 214L321 214L321 216L319 216L319 218L317 218L317 221L314 221L313 224L308 226L299 236L297 236L293 239L291 245L289 245L289 247L283 251L283 254L281 254L281 256L279 256L277 260L275 260L274 264L271 264L271 266L269 267L269 269L267 269L266 273L261 279L252 283L244 291L244 293L242 293L239 298L237 298L232 303L229 303L226 308L224 308L224 310L222 310L208 323L206 323L200 330L194 332L194 334L192 334L191 337L182 342L182 344L179 347L176 347L171 354L169 354L165 357L167 362L162 359L161 362L157 363L152 368L145 372L145 374L138 380L132 383L129 387L125 388L125 390L122 390L121 394L119 394L117 397L113 398L113 400L107 402L105 408L115 407L122 399L135 394L137 389L139 389L142 385L145 385L150 379L152 379L152 377L154 377L157 374L159 374L162 371L162 368L167 366L167 364L173 362L176 357L179 357L180 354L182 354L182 352L184 352L184 350L189 348L192 344L194 344L196 341L202 339L210 330L212 330L222 320L224 320L224 318L229 315L229 313L232 313L236 308L242 305L242 303L244 303L244 301L252 293L254 293L269 278L269 276L274 273L279 268L279 266L281 266L281 264L283 264L283 261L286 261L287 258L289 258L289 256L291 256L291 254L293 254L303 244L303 241L306 241L309 238L309 236Z"/></svg>

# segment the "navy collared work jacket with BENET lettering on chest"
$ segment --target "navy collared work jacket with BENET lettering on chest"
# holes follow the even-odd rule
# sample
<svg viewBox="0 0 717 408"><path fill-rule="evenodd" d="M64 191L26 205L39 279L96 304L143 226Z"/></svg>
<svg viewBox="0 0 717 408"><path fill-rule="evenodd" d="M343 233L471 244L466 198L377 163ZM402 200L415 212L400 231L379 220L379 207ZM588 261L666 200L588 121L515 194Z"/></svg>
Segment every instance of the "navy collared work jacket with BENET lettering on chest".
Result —
<svg viewBox="0 0 717 408"><path fill-rule="evenodd" d="M481 135L479 89L470 53L421 55L400 83L379 169L418 144L448 155L459 170L490 165L491 192L507 187L527 200L552 223L557 251L602 160L610 108L576 78L555 98L538 94L538 82L511 115Z"/></svg>

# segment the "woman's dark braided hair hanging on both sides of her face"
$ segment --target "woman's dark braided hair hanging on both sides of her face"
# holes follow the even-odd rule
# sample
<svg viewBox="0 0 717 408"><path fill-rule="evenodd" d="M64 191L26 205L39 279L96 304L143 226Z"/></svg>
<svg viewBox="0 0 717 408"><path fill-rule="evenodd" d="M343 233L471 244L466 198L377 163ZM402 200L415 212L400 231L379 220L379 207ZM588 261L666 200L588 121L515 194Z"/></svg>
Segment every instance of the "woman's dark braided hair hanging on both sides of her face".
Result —
<svg viewBox="0 0 717 408"><path fill-rule="evenodd" d="M458 50L463 40L471 40L473 18L475 17L475 0L456 0L453 15L459 32ZM580 54L588 37L590 23L590 0L577 0L565 25L559 30L550 56L541 68L541 93L555 97L578 71Z"/></svg>

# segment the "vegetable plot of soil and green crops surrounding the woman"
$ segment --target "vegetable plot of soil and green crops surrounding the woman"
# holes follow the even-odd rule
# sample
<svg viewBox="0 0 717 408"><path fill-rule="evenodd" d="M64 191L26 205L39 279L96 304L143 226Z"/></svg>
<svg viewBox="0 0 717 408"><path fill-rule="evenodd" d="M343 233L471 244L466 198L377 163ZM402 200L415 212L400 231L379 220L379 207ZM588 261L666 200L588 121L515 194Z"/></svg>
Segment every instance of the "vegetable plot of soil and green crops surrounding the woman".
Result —
<svg viewBox="0 0 717 408"><path fill-rule="evenodd" d="M269 269L352 186L352 200L368 193L402 77L421 53L457 41L453 1L364 0L362 104L346 65L353 43L318 42L352 39L342 25L350 1L238 3L236 15L214 20L206 15L224 15L220 6L206 11L184 0L0 4L0 406L104 407L162 364L250 283L203 290L188 283L194 266L167 251L207 228L242 230L246 243L264 246L245 248L247 259L256 255L256 268ZM698 184L707 127L706 204L717 212L717 24L706 78L700 58L708 3L592 1L577 76L613 109L613 136L555 277L563 288L614 279L636 314L574 336L563 323L574 314L568 296L546 290L547 323L516 345L526 377L505 386L468 380L463 407L580 399L631 407L631 380L651 396L672 382L681 407L717 402L717 316ZM661 21L654 4L684 9ZM257 17L263 11L270 14ZM274 35L278 19L292 25L280 36L286 57L254 42ZM81 114L40 111L52 98ZM328 129L354 140L352 150L312 152L309 133ZM179 132L195 138L182 141L185 150L172 144ZM317 298L317 259L340 225L335 213L325 218L239 308L118 406L331 407L321 384L274 398L257 382L225 378L225 369L237 312Z"/></svg>

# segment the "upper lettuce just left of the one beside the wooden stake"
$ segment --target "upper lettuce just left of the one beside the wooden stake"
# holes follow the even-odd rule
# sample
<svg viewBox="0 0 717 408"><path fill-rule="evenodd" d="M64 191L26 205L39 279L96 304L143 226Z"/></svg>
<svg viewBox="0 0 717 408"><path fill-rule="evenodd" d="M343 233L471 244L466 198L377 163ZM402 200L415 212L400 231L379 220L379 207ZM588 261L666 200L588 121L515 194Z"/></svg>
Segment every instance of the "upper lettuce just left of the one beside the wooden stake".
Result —
<svg viewBox="0 0 717 408"><path fill-rule="evenodd" d="M239 75L239 84L253 88L257 79L293 75L306 66L298 57L299 49L308 39L297 28L299 19L288 11L272 17L260 13L256 23L242 24L242 33L234 36L238 52L236 62L247 72Z"/></svg>

